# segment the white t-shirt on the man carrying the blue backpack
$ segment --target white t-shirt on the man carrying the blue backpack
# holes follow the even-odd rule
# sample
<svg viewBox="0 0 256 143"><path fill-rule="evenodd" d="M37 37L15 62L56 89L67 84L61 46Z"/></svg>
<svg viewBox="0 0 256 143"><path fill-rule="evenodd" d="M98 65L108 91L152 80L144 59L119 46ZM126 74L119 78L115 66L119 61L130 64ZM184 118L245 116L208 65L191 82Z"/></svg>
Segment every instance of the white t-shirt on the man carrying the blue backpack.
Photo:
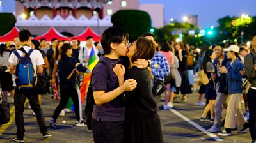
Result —
<svg viewBox="0 0 256 143"><path fill-rule="evenodd" d="M28 46L23 46L23 48L26 52L28 52L31 49L31 47L28 47ZM17 50L17 51L20 54L20 56L22 56L23 52L21 50ZM43 56L39 52L39 50L34 49L33 52L31 52L29 57L32 61L33 68L36 72L36 67L44 64ZM12 52L8 61L16 66L17 61L18 61L18 57Z"/></svg>

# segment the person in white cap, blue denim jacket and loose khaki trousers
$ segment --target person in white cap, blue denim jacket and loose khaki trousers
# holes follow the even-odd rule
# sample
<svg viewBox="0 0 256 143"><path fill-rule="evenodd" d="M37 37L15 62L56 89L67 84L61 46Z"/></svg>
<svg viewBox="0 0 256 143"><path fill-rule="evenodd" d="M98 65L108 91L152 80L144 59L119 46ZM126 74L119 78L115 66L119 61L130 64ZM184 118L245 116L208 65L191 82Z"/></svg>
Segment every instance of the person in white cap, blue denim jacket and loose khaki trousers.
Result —
<svg viewBox="0 0 256 143"><path fill-rule="evenodd" d="M236 128L236 125L244 125L244 127L248 126L240 105L244 66L241 62L241 59L239 59L239 47L237 45L230 45L230 47L224 49L224 51L227 52L227 58L229 61L227 61L226 67L222 66L220 68L220 72L226 73L228 107L224 124L225 130L223 130L221 133L218 133L218 135L230 136L232 135L231 129ZM240 130L239 133L242 130Z"/></svg>

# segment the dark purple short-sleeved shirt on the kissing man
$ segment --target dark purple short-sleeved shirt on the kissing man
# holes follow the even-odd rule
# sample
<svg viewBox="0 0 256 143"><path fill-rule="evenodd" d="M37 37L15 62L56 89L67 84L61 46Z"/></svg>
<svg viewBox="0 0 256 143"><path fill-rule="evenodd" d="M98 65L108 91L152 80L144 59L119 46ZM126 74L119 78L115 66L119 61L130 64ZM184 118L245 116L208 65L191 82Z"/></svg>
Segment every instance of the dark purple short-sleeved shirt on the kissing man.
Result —
<svg viewBox="0 0 256 143"><path fill-rule="evenodd" d="M113 91L119 86L118 77L113 72L113 67L122 63L120 59L109 59L101 56L100 61L103 61L109 68L109 73L106 71L104 64L99 63L95 66L92 72L93 91ZM99 121L124 121L125 106L118 97L103 105L94 105L92 117Z"/></svg>

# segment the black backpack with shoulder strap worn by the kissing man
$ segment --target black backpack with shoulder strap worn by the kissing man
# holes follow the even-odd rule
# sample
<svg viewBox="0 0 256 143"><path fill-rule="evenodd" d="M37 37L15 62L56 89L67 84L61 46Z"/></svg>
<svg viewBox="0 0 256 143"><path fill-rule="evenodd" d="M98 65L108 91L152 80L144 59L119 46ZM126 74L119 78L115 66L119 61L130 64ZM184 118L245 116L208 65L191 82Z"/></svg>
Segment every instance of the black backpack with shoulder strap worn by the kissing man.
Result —
<svg viewBox="0 0 256 143"><path fill-rule="evenodd" d="M106 68L106 71L108 72L108 79L109 79L109 68L108 65L106 63L104 63L104 61L99 61L97 64L103 64ZM86 105L85 105L85 109L84 109L84 116L85 116L85 121L87 124L87 128L88 130L92 130L92 112L93 112L93 106L95 105L95 101L94 101L94 96L93 96L93 90L92 90L92 75L91 75L91 81L90 84L88 86L88 91L87 91L87 95L86 95Z"/></svg>

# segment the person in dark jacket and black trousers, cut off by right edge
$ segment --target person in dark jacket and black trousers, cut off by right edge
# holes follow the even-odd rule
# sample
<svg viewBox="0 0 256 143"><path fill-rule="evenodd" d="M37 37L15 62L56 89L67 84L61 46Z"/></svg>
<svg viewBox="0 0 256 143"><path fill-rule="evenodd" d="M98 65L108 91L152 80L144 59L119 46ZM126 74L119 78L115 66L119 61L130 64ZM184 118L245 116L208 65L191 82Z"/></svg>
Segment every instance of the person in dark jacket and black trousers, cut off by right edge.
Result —
<svg viewBox="0 0 256 143"><path fill-rule="evenodd" d="M253 34L251 45L253 49L251 54L247 54L244 58L245 75L250 81L251 87L247 93L249 105L249 128L252 143L256 142L256 34Z"/></svg>

